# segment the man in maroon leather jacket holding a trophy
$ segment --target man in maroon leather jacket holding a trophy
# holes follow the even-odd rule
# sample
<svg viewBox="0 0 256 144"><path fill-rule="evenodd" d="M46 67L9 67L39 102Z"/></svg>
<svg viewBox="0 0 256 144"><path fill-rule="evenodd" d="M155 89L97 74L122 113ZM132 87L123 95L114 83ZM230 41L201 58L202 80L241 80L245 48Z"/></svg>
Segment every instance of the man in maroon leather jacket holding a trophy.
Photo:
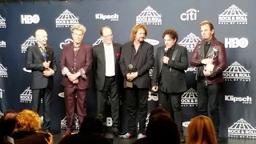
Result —
<svg viewBox="0 0 256 144"><path fill-rule="evenodd" d="M198 112L210 115L214 123L216 136L220 125L218 98L222 97L222 71L226 70L226 50L222 42L214 37L214 26L209 21L200 23L202 41L198 42L190 58L190 65L197 67L196 81L198 91Z"/></svg>

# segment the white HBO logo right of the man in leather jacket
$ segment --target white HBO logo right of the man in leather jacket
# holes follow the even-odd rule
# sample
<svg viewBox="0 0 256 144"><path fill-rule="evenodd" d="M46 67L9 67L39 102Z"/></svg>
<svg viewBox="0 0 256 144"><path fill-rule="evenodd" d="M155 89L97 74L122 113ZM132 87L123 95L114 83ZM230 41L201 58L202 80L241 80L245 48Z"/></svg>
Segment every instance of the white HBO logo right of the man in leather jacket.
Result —
<svg viewBox="0 0 256 144"><path fill-rule="evenodd" d="M226 48L246 48L248 43L248 39L246 38L225 38Z"/></svg>

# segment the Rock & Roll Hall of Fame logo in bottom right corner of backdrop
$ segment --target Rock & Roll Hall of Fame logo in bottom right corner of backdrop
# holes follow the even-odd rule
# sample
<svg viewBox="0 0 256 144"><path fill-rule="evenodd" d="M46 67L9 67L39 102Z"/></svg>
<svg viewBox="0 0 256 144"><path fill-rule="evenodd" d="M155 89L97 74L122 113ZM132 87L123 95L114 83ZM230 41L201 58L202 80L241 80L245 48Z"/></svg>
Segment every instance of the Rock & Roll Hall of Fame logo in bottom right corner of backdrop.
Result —
<svg viewBox="0 0 256 144"><path fill-rule="evenodd" d="M228 137L256 139L256 129L241 118L228 128Z"/></svg>

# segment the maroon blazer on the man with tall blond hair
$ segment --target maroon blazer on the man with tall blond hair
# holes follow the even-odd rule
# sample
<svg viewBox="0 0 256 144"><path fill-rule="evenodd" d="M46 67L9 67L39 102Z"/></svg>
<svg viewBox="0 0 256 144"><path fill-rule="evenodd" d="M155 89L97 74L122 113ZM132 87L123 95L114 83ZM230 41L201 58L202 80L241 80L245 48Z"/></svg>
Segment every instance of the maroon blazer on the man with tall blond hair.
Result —
<svg viewBox="0 0 256 144"><path fill-rule="evenodd" d="M70 70L70 73L74 74L73 70L73 62L74 62L74 43L71 42L65 46L63 46L62 55L60 58L60 66L63 70L66 67ZM77 64L75 70L80 70L83 68L86 72L86 78L78 77L78 87L81 90L87 89L90 87L90 78L89 72L92 66L92 49L89 45L81 44L80 50L78 51L78 58L76 60ZM78 72L78 71L77 71ZM62 86L72 87L74 84L70 82L67 76L63 76L62 78Z"/></svg>

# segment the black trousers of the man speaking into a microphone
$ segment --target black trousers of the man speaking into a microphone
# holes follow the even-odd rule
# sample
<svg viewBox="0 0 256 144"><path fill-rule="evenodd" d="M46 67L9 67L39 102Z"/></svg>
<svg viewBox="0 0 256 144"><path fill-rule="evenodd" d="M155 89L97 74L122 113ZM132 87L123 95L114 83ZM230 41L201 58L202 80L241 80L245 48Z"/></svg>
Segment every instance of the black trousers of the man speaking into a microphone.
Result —
<svg viewBox="0 0 256 144"><path fill-rule="evenodd" d="M182 93L165 93L158 90L159 106L167 110L173 117L178 126L178 130L183 136L182 129Z"/></svg>

